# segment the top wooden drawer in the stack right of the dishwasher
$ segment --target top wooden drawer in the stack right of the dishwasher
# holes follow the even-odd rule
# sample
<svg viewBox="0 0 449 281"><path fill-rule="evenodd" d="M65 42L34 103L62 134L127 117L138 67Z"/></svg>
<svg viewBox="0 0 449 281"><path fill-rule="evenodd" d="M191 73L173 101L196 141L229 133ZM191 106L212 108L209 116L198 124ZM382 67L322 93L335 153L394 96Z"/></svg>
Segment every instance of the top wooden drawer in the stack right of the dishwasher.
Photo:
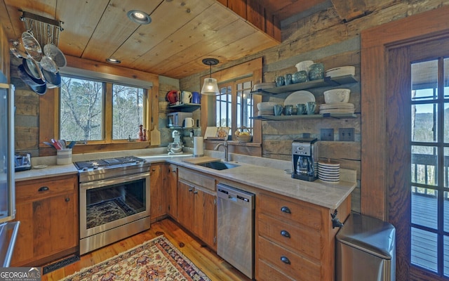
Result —
<svg viewBox="0 0 449 281"><path fill-rule="evenodd" d="M313 204L286 200L264 193L261 193L256 198L260 213L288 221L288 223L301 224L316 230L321 229L321 222L324 220L321 217L320 209ZM330 220L330 218L326 219Z"/></svg>

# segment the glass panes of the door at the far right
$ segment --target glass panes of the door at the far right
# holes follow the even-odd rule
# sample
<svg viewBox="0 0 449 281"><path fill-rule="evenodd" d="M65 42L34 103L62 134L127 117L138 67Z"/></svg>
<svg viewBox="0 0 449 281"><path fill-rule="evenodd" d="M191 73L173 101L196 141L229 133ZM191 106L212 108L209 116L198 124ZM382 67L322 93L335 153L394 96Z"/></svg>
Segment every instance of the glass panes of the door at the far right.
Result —
<svg viewBox="0 0 449 281"><path fill-rule="evenodd" d="M411 70L410 263L449 277L449 59Z"/></svg>

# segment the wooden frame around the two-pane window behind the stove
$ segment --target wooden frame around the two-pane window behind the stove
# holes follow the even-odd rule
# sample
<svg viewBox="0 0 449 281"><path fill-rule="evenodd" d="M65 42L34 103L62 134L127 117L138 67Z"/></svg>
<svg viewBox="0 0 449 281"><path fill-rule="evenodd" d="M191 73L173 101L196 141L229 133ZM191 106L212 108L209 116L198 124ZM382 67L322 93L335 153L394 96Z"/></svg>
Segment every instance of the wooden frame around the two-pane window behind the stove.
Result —
<svg viewBox="0 0 449 281"><path fill-rule="evenodd" d="M71 76L81 79L92 79L98 81L105 80L105 91L110 91L111 95L105 96L105 103L109 104L109 108L105 110L110 111L107 115L112 116L112 84L125 86L142 87L142 85L151 85L151 89L147 89L147 98L145 100L145 107L147 112L144 115L144 123L147 126L147 140L148 141L112 141L112 122L105 124L105 140L103 141L88 141L87 143L77 143L73 148L73 153L90 153L99 151L116 151L116 150L134 150L150 148L160 144L160 137L154 134L154 139L151 136L154 132L158 133L159 127L159 75L142 72L139 70L132 70L126 67L118 67L115 65L108 65L106 63L93 62L91 60L84 60L81 58L74 58L67 56L67 67L61 70L65 76ZM94 76L94 77L92 77ZM48 89L47 93L39 97L39 156L55 155L53 148L44 145L44 141L50 141L51 138L58 138L59 133L59 94L60 89ZM107 116L106 115L106 116ZM137 133L136 129L136 133ZM109 133L108 133L109 132ZM159 135L160 136L160 135Z"/></svg>

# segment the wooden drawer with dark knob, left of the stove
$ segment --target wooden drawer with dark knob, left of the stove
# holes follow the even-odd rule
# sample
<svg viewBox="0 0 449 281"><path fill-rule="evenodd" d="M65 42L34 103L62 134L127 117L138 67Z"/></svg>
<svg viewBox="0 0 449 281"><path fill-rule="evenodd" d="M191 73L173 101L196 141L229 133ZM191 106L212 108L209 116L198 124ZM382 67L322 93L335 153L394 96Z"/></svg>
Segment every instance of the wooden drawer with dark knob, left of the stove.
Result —
<svg viewBox="0 0 449 281"><path fill-rule="evenodd" d="M15 197L17 200L34 200L61 192L74 192L73 176L15 183Z"/></svg>

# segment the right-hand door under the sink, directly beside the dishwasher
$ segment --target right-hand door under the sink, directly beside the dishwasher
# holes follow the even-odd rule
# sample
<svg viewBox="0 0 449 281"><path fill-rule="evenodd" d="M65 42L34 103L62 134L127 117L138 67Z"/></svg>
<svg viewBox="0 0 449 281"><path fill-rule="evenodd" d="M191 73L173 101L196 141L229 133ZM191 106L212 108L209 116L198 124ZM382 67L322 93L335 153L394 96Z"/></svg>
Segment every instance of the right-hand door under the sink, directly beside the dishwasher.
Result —
<svg viewBox="0 0 449 281"><path fill-rule="evenodd" d="M194 233L210 247L216 247L216 196L199 188L194 190Z"/></svg>

